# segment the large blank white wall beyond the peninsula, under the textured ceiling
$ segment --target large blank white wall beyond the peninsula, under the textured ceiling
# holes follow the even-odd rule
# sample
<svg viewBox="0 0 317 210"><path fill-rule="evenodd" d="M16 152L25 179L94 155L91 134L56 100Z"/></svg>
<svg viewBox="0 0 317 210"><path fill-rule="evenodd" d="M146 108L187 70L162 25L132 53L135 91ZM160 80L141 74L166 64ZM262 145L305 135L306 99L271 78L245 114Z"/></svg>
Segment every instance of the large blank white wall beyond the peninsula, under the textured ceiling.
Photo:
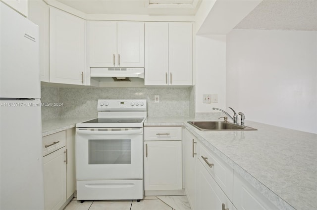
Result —
<svg viewBox="0 0 317 210"><path fill-rule="evenodd" d="M246 120L317 133L317 32L232 30L226 103Z"/></svg>

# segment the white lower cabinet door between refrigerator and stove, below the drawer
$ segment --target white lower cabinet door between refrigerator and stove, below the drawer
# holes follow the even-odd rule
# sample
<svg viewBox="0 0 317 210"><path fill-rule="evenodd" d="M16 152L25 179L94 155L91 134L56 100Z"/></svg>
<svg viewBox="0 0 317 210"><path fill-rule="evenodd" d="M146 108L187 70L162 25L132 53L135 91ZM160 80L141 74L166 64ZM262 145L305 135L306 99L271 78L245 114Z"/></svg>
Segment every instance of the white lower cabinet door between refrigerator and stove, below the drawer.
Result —
<svg viewBox="0 0 317 210"><path fill-rule="evenodd" d="M66 202L65 147L43 157L45 210L58 210Z"/></svg>

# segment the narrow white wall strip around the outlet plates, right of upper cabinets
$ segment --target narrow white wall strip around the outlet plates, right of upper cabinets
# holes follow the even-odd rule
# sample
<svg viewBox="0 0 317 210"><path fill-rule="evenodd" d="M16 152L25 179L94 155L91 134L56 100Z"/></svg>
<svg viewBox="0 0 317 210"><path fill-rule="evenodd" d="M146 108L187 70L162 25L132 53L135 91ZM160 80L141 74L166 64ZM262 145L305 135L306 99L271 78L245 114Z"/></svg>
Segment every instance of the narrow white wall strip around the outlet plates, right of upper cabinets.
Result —
<svg viewBox="0 0 317 210"><path fill-rule="evenodd" d="M226 106L226 37L196 36L195 112ZM203 103L203 94L218 94L218 103ZM218 111L217 111L218 112Z"/></svg>

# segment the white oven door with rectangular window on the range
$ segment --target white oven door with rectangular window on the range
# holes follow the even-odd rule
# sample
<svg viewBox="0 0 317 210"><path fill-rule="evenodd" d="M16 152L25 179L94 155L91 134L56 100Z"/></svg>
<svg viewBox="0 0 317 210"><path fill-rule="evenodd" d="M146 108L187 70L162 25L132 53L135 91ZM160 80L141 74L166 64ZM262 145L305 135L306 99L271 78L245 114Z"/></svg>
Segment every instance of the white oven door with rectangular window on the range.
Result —
<svg viewBox="0 0 317 210"><path fill-rule="evenodd" d="M143 128L76 128L76 176L143 179Z"/></svg>

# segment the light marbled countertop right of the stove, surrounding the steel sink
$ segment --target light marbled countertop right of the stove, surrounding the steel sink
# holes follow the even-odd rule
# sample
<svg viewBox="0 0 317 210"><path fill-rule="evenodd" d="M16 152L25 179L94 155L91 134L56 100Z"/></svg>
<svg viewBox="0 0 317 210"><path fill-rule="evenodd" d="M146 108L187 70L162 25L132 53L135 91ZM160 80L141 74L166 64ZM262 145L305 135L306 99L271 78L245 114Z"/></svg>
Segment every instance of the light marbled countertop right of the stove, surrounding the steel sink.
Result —
<svg viewBox="0 0 317 210"><path fill-rule="evenodd" d="M187 121L190 119L148 118L144 126L177 126L183 122L280 209L317 209L317 134L250 121L246 126L258 130L200 131Z"/></svg>

